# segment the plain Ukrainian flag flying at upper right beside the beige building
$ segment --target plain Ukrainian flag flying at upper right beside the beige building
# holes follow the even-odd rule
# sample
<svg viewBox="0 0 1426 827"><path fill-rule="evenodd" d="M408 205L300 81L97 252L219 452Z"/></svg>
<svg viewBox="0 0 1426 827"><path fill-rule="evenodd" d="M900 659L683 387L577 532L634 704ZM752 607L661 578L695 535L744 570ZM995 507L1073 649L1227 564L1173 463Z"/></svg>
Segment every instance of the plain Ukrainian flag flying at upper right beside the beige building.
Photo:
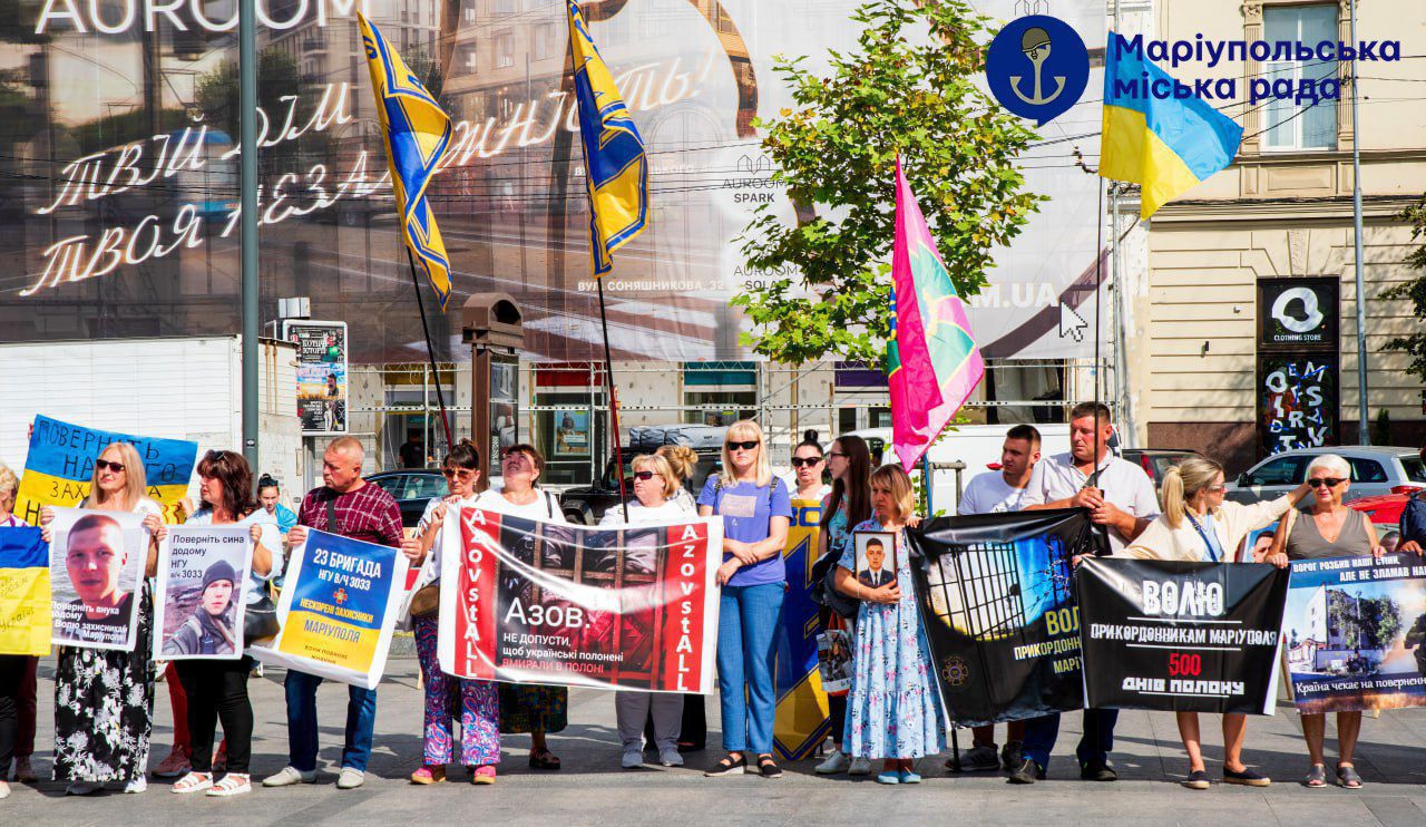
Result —
<svg viewBox="0 0 1426 827"><path fill-rule="evenodd" d="M1241 125L1196 97L1159 100L1145 94L1155 81L1166 81L1168 88L1175 83L1111 31L1099 177L1138 184L1142 218L1231 164L1243 137Z"/></svg>

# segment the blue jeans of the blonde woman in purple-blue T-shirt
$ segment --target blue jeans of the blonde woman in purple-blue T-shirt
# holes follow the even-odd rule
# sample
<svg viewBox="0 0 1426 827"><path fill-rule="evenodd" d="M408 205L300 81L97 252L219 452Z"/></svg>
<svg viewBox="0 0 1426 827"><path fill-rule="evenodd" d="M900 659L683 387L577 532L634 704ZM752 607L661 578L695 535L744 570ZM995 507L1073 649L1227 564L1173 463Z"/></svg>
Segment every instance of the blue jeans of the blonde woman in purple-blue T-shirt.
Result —
<svg viewBox="0 0 1426 827"><path fill-rule="evenodd" d="M783 622L783 583L723 586L717 617L717 692L723 749L773 751L776 633ZM744 694L746 687L746 694Z"/></svg>

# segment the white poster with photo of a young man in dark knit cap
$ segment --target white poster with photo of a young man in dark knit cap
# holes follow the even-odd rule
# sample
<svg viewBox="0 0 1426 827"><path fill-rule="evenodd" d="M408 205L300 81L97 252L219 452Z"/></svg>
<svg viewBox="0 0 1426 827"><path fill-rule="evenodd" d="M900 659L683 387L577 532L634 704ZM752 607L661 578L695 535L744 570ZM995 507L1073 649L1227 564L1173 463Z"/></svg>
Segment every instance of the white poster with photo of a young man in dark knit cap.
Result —
<svg viewBox="0 0 1426 827"><path fill-rule="evenodd" d="M158 549L154 660L242 657L250 526L175 526Z"/></svg>

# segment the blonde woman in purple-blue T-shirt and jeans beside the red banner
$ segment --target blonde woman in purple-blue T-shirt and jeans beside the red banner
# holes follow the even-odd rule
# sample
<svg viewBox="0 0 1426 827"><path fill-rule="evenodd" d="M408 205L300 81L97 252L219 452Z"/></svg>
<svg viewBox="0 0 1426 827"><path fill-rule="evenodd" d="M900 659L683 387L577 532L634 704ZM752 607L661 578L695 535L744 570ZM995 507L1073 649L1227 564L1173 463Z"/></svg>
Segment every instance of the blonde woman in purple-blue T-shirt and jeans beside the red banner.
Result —
<svg viewBox="0 0 1426 827"><path fill-rule="evenodd" d="M743 419L727 429L723 469L703 485L699 515L723 518L717 689L727 756L704 774L746 771L777 779L783 771L771 756L777 706L773 659L787 580L783 546L793 506L787 486L773 476L757 422ZM749 764L749 751L757 754L756 764Z"/></svg>

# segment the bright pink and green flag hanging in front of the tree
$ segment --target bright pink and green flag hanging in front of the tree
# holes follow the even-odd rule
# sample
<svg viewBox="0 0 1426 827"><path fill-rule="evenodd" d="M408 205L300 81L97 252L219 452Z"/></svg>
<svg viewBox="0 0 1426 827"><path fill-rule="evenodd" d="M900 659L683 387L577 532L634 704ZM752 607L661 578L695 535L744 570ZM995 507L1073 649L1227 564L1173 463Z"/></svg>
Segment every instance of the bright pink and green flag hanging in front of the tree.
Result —
<svg viewBox="0 0 1426 827"><path fill-rule="evenodd" d="M971 337L965 305L901 173L901 158L896 161L891 311L886 365L891 445L901 465L911 469L980 384L985 361Z"/></svg>

